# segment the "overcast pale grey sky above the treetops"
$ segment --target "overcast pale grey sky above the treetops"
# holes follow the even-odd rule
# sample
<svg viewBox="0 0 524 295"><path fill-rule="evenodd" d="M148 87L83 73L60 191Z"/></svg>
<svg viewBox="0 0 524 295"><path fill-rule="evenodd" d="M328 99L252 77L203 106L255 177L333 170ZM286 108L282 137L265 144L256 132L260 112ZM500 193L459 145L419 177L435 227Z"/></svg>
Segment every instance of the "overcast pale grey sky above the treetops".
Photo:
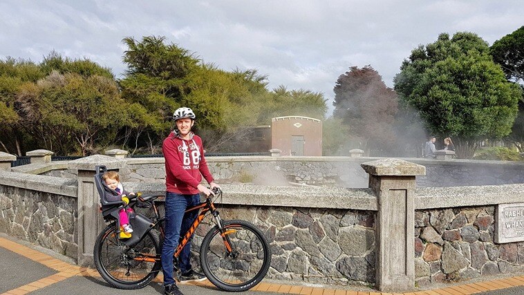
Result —
<svg viewBox="0 0 524 295"><path fill-rule="evenodd" d="M387 86L402 60L441 32L489 45L524 25L521 0L21 1L0 0L0 59L40 62L52 50L122 77L124 37L165 36L224 70L256 68L279 85L324 93L350 66Z"/></svg>

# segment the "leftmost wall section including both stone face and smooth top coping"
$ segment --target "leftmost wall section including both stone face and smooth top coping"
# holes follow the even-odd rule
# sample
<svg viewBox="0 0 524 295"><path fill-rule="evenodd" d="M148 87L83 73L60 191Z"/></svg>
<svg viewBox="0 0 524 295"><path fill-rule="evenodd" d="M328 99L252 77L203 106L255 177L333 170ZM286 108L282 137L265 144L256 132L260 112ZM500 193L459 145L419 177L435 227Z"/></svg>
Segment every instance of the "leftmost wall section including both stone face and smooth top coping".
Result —
<svg viewBox="0 0 524 295"><path fill-rule="evenodd" d="M77 217L76 180L0 171L0 231L76 258Z"/></svg>

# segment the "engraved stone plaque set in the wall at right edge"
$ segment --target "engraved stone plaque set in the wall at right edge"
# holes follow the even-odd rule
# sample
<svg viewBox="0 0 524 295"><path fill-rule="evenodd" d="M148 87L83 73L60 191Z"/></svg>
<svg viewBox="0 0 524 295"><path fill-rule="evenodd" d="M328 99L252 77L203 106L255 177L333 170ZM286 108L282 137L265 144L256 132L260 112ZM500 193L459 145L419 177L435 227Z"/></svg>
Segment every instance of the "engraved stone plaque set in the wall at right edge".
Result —
<svg viewBox="0 0 524 295"><path fill-rule="evenodd" d="M495 242L524 241L524 203L498 204L495 222Z"/></svg>

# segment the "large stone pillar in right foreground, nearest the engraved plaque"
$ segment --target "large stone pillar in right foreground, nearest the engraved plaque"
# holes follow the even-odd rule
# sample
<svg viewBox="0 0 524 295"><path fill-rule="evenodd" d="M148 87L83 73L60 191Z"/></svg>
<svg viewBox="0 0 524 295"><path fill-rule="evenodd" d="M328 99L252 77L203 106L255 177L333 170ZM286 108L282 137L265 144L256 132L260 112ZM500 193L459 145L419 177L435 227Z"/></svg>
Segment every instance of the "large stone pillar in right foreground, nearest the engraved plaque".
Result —
<svg viewBox="0 0 524 295"><path fill-rule="evenodd" d="M377 287L382 292L411 291L415 287L415 175L425 175L426 167L392 158L361 166L378 198Z"/></svg>

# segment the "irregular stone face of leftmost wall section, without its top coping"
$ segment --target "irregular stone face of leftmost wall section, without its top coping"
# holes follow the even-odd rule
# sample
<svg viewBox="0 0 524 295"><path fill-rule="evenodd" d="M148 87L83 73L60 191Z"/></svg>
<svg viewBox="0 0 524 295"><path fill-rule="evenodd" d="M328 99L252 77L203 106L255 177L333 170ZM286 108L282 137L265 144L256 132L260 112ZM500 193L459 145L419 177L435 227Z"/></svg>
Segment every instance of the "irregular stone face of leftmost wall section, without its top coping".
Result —
<svg viewBox="0 0 524 295"><path fill-rule="evenodd" d="M0 231L77 257L76 198L0 185Z"/></svg>

